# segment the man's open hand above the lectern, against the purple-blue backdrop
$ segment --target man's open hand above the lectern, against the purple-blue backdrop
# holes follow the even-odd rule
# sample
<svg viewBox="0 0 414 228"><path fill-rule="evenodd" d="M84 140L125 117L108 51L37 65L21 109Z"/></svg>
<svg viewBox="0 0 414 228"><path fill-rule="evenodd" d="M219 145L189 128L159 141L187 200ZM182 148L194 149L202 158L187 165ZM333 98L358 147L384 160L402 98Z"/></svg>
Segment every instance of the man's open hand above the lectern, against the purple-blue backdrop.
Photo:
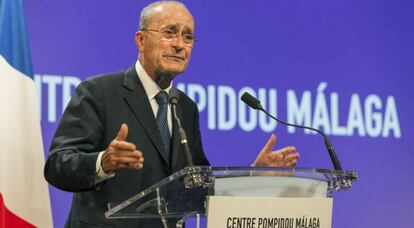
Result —
<svg viewBox="0 0 414 228"><path fill-rule="evenodd" d="M276 135L272 134L260 151L253 166L294 167L298 162L299 153L293 146L272 151L276 144Z"/></svg>

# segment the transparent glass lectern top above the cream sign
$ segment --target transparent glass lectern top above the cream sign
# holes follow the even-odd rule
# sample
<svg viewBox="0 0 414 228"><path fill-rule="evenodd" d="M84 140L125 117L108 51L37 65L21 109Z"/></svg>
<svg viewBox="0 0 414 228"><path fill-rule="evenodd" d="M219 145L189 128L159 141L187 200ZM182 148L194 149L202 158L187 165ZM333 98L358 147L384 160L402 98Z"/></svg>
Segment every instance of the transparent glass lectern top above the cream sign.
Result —
<svg viewBox="0 0 414 228"><path fill-rule="evenodd" d="M208 196L329 198L351 188L355 172L271 167L184 168L124 202L109 202L108 219L188 218L206 215Z"/></svg>

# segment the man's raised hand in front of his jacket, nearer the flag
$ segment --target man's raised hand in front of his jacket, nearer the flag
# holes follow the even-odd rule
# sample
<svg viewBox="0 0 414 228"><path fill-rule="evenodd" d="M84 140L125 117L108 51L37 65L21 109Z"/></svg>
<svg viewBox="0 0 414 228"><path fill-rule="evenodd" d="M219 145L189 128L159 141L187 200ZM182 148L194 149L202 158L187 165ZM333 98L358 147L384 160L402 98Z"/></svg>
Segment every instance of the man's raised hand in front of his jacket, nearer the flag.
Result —
<svg viewBox="0 0 414 228"><path fill-rule="evenodd" d="M121 169L142 169L144 157L135 144L125 141L128 136L128 126L122 124L118 135L102 155L101 166L105 173L115 173Z"/></svg>

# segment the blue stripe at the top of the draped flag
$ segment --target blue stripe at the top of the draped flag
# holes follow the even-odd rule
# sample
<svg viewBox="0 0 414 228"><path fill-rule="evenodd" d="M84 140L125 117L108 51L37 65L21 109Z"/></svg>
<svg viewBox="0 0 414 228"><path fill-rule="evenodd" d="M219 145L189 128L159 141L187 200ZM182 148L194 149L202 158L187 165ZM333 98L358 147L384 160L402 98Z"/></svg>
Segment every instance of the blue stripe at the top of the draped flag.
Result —
<svg viewBox="0 0 414 228"><path fill-rule="evenodd" d="M0 0L0 55L16 70L33 78L22 0Z"/></svg>

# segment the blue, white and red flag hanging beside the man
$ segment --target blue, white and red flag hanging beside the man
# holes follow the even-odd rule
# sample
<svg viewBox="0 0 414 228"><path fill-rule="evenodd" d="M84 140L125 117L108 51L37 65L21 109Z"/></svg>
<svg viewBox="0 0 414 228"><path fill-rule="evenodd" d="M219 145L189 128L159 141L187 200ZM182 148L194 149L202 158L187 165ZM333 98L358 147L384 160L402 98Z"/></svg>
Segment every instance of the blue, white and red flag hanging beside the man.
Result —
<svg viewBox="0 0 414 228"><path fill-rule="evenodd" d="M52 227L22 0L0 0L0 228Z"/></svg>

